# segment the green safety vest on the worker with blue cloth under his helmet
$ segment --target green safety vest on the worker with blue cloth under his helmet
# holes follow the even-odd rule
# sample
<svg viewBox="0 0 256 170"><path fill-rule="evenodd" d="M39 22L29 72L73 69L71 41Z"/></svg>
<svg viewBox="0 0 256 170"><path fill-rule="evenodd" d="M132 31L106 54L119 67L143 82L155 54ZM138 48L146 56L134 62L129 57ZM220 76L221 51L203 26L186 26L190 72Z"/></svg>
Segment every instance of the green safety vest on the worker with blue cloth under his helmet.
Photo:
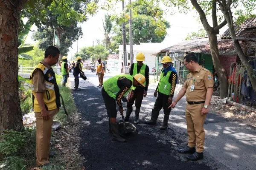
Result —
<svg viewBox="0 0 256 170"><path fill-rule="evenodd" d="M161 71L160 74L160 80L158 84L157 91L159 91L162 94L170 95L172 84L169 83L169 77L171 75L172 71L168 71L166 76L163 76L163 72Z"/></svg>

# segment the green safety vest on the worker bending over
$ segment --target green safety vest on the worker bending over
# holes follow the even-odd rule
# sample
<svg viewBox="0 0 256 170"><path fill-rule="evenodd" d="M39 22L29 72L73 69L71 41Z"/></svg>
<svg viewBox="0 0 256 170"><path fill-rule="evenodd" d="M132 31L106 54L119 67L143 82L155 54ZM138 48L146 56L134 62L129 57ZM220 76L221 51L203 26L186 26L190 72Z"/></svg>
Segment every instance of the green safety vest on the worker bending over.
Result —
<svg viewBox="0 0 256 170"><path fill-rule="evenodd" d="M116 94L120 91L120 88L117 85L117 80L120 77L125 77L125 78L133 81L133 76L121 74L121 75L111 77L103 82L104 90L107 92L107 94L109 96L113 97L114 99L116 99ZM131 86L131 88L132 87L133 86ZM129 94L129 92L131 91L131 88L123 96L127 96Z"/></svg>

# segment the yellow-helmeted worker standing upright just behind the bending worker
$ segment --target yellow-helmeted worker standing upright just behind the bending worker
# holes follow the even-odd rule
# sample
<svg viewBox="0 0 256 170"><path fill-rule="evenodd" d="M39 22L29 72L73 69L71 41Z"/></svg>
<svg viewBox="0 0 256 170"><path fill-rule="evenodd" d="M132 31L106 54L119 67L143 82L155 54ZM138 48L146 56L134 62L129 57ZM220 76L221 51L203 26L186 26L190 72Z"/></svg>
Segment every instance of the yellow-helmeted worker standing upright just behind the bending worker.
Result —
<svg viewBox="0 0 256 170"><path fill-rule="evenodd" d="M145 87L134 87L132 88L131 93L128 96L127 102L127 110L125 121L128 121L131 112L132 112L132 105L135 101L135 118L134 124L139 123L139 114L140 114L140 107L143 100L143 97L147 96L148 85L149 85L149 68L148 65L144 64L143 61L145 60L145 56L143 53L138 53L136 56L137 63L133 63L131 65L130 75L134 76L137 73L142 74L146 81L144 82Z"/></svg>

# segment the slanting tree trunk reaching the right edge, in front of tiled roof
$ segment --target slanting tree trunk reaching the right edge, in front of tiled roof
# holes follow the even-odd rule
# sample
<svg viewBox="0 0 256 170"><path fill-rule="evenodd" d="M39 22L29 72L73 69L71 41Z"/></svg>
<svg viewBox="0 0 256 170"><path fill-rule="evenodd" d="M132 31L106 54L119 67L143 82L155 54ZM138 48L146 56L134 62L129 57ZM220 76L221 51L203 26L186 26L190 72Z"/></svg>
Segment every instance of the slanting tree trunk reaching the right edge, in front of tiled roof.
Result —
<svg viewBox="0 0 256 170"><path fill-rule="evenodd" d="M220 6L221 7L221 11L224 14L225 19L227 20L227 25L230 31L230 35L231 35L231 39L232 42L234 44L234 48L242 62L242 64L244 65L244 67L247 70L247 75L250 78L250 82L252 84L253 87L253 91L256 92L256 78L253 77L253 68L250 65L250 63L248 62L247 57L244 55L244 52L241 48L241 45L239 43L239 40L237 40L236 38L236 32L235 32L235 28L234 28L234 24L233 24L233 16L232 16L232 12L230 10L229 6Z"/></svg>

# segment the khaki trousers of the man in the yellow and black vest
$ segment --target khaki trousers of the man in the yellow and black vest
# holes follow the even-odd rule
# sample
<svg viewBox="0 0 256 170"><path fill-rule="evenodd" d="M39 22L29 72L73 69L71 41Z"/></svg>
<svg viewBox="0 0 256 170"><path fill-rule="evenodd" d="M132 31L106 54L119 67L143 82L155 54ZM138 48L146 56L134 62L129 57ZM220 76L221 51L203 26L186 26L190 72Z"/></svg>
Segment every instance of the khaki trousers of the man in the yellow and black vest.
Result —
<svg viewBox="0 0 256 170"><path fill-rule="evenodd" d="M36 117L36 164L38 166L49 163L49 150L52 135L53 116L58 113L58 108L49 111L50 119L42 119L41 112L35 112Z"/></svg>

